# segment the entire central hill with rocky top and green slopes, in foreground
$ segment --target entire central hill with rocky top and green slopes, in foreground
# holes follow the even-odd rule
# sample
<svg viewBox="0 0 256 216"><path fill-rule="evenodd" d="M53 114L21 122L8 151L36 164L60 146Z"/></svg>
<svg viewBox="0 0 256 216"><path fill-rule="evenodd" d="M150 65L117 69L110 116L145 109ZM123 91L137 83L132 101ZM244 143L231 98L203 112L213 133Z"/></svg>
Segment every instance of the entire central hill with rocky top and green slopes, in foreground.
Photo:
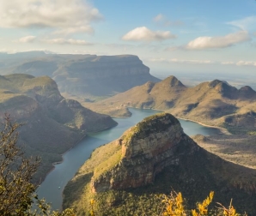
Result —
<svg viewBox="0 0 256 216"><path fill-rule="evenodd" d="M64 207L99 215L156 212L154 195L181 191L188 207L216 191L216 201L256 213L256 171L224 161L198 147L168 113L145 118L118 140L94 150L64 189ZM151 215L151 214L150 214Z"/></svg>

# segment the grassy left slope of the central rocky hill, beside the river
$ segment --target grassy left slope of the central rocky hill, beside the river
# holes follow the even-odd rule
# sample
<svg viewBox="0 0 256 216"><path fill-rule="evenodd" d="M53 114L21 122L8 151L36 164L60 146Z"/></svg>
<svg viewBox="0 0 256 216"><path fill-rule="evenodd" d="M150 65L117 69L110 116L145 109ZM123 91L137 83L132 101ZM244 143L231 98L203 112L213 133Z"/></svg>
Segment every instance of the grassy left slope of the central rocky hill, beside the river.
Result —
<svg viewBox="0 0 256 216"><path fill-rule="evenodd" d="M76 176L65 187L63 206L76 207L76 209L80 209L79 211L82 211L83 206L89 207L88 201L94 197L86 192L91 190L91 177L99 177L110 170L117 165L120 157L121 146L117 141L96 148L86 163L76 172Z"/></svg>

